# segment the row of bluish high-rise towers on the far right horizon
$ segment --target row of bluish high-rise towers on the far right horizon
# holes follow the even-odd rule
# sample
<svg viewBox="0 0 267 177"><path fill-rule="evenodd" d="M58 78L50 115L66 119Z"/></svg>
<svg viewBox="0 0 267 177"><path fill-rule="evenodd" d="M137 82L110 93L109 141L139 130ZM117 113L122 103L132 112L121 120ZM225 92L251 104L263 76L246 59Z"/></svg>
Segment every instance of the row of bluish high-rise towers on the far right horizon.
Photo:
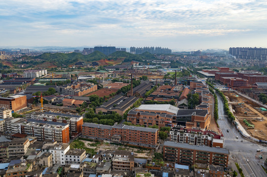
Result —
<svg viewBox="0 0 267 177"><path fill-rule="evenodd" d="M230 47L229 54L238 59L267 60L267 48Z"/></svg>

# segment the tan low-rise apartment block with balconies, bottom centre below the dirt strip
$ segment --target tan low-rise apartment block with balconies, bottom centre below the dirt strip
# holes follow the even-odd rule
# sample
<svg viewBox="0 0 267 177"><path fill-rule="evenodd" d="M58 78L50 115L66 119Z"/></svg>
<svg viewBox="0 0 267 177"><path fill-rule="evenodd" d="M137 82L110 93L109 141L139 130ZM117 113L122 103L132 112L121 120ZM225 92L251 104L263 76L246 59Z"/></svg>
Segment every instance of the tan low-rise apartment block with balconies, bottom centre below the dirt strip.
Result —
<svg viewBox="0 0 267 177"><path fill-rule="evenodd" d="M115 150L112 169L118 171L132 171L134 168L134 152Z"/></svg>

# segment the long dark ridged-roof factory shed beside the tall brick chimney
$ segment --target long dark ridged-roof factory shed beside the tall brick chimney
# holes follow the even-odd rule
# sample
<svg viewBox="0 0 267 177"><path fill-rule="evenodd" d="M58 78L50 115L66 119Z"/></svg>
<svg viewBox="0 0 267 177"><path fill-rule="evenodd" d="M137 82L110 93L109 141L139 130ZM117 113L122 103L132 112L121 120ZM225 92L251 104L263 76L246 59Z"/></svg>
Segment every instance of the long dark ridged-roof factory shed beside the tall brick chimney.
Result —
<svg viewBox="0 0 267 177"><path fill-rule="evenodd" d="M122 96L116 95L114 98L110 99L109 101L103 103L101 106L96 107L96 114L100 111L104 114L111 114L112 112L118 113L120 116L131 107L133 104L138 100L138 97L135 96Z"/></svg>

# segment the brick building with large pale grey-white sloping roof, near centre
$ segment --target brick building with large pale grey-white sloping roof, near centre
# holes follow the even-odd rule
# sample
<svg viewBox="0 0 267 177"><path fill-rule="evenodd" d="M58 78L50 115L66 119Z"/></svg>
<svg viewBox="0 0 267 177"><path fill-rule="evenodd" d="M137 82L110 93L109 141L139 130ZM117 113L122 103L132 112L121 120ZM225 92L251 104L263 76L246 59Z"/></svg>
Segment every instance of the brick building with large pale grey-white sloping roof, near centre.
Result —
<svg viewBox="0 0 267 177"><path fill-rule="evenodd" d="M128 112L127 121L137 125L172 126L179 108L170 104L141 105Z"/></svg>

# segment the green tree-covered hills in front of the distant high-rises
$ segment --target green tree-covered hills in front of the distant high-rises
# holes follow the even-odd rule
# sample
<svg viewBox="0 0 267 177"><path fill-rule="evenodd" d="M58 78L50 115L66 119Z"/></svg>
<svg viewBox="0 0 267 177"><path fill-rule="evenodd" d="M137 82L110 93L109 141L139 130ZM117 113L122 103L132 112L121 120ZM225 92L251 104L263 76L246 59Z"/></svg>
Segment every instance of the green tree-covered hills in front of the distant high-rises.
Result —
<svg viewBox="0 0 267 177"><path fill-rule="evenodd" d="M22 56L21 58L24 58L26 62L27 62L27 60L41 59L42 61L40 61L39 63L52 62L53 64L55 64L57 66L68 66L70 64L75 64L75 62L77 62L77 61L90 62L90 61L98 61L101 59L108 59L108 60L124 59L124 62L129 62L132 60L142 62L144 60L156 59L153 54L150 54L148 52L145 52L145 53L140 54L140 55L135 55L135 54L130 54L128 52L122 52L122 51L114 52L113 54L111 54L109 56L106 56L99 51L95 51L89 55L82 55L80 53L74 53L74 52L69 53L69 54L44 53L44 54L36 56L36 57Z"/></svg>

